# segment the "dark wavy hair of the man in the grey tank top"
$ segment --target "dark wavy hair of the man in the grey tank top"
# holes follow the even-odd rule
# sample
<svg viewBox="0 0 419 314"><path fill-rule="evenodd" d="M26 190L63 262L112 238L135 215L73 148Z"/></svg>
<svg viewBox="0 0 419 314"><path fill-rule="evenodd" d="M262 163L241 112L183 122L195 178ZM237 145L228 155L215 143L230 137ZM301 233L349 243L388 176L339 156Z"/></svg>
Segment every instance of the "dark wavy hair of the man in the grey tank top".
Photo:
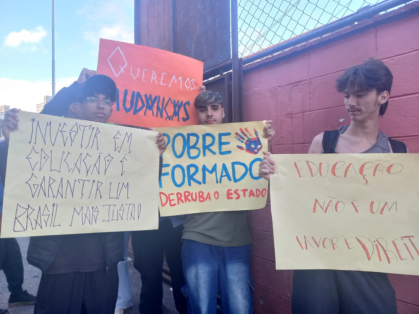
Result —
<svg viewBox="0 0 419 314"><path fill-rule="evenodd" d="M336 90L341 93L355 94L361 90L377 90L377 94L388 91L390 94L393 75L381 60L370 58L362 64L347 69L336 80ZM380 106L380 116L387 110L388 100Z"/></svg>

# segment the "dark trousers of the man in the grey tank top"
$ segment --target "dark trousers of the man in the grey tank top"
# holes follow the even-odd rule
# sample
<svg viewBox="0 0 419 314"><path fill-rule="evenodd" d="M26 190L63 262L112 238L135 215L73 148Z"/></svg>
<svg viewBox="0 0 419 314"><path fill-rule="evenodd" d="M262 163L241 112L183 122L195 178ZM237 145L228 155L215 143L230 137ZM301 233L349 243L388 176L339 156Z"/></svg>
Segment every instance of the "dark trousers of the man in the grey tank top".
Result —
<svg viewBox="0 0 419 314"><path fill-rule="evenodd" d="M387 274L353 270L294 270L293 314L396 314Z"/></svg>

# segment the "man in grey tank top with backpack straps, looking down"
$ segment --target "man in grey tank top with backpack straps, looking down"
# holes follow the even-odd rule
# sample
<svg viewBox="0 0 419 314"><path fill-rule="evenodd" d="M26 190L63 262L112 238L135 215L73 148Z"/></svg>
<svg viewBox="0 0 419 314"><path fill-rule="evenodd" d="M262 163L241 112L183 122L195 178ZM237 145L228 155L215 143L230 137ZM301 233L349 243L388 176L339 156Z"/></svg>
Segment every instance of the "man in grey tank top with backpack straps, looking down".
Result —
<svg viewBox="0 0 419 314"><path fill-rule="evenodd" d="M368 59L336 80L351 124L318 134L309 154L407 153L403 142L389 139L378 127L390 96L393 75L385 64ZM264 152L259 175L269 180L275 163ZM396 314L396 295L387 274L354 270L294 270L293 314Z"/></svg>

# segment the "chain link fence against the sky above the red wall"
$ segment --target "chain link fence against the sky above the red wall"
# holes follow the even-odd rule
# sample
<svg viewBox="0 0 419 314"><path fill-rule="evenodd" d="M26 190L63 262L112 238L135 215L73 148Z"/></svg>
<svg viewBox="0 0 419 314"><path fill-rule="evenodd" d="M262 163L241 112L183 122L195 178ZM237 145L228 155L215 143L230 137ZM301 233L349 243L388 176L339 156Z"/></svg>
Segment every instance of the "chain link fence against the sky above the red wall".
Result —
<svg viewBox="0 0 419 314"><path fill-rule="evenodd" d="M239 57L385 2L388 0L238 0Z"/></svg>

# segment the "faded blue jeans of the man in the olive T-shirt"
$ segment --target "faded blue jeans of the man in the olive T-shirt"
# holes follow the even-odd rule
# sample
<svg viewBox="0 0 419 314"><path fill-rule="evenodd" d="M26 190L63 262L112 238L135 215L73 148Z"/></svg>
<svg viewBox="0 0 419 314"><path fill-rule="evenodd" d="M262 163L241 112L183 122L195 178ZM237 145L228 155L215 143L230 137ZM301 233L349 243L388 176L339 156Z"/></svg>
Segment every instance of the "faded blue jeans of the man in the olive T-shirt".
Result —
<svg viewBox="0 0 419 314"><path fill-rule="evenodd" d="M184 239L182 263L188 314L215 314L218 290L223 314L253 313L250 244L221 247Z"/></svg>

